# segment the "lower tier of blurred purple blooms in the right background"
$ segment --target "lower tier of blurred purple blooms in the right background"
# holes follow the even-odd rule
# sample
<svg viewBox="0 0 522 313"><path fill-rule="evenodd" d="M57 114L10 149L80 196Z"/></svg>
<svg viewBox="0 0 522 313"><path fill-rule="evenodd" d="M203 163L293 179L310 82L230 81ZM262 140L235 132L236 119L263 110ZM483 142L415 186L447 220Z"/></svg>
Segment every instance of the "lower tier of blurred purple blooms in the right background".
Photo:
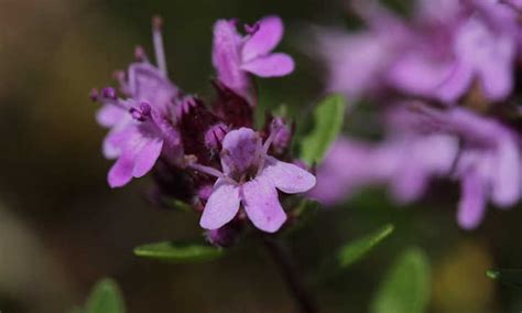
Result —
<svg viewBox="0 0 522 313"><path fill-rule="evenodd" d="M491 118L463 108L416 106L389 115L391 129L381 143L339 139L317 172L311 196L335 204L357 187L385 184L400 203L421 197L428 182L460 182L457 220L479 225L488 201L514 205L522 195L520 138Z"/></svg>

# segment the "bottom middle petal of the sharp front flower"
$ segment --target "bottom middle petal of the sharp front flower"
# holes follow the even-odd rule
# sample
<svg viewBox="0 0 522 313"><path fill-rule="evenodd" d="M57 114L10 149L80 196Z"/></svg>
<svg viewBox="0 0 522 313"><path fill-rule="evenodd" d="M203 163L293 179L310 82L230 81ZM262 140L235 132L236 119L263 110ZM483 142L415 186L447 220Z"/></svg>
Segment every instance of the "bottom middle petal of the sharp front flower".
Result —
<svg viewBox="0 0 522 313"><path fill-rule="evenodd" d="M242 186L241 198L252 224L267 233L275 233L286 220L278 191L272 182L257 177Z"/></svg>

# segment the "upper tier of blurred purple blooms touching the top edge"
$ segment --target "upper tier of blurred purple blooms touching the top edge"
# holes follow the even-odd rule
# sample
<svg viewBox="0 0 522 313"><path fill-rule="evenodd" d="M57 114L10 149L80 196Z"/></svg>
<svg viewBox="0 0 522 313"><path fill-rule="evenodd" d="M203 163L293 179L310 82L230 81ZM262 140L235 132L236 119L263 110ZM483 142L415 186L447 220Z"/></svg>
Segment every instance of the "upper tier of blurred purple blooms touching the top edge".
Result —
<svg viewBox="0 0 522 313"><path fill-rule="evenodd" d="M454 104L478 82L489 100L512 89L516 14L497 1L420 0L413 22L362 6L370 31L323 32L329 88L348 96L396 89Z"/></svg>

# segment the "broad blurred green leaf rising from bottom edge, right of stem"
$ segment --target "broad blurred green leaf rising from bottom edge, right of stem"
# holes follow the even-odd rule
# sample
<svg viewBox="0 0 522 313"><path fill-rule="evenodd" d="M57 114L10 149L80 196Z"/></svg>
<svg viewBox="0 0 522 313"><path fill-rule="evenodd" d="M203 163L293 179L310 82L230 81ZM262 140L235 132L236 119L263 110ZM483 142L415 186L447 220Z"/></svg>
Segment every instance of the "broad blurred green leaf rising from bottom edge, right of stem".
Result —
<svg viewBox="0 0 522 313"><path fill-rule="evenodd" d="M387 273L373 299L373 313L421 313L429 300L429 265L416 248L403 252Z"/></svg>

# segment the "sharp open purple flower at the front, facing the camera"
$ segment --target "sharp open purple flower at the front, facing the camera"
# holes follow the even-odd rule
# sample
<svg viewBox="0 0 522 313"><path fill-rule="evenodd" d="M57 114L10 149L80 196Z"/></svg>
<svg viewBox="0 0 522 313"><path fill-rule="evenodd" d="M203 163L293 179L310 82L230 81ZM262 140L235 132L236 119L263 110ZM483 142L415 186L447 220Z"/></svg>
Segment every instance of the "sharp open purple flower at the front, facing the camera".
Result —
<svg viewBox="0 0 522 313"><path fill-rule="evenodd" d="M203 212L203 228L222 227L236 217L242 204L255 227L274 233L286 220L276 188L295 194L315 185L315 176L307 171L267 154L273 137L271 134L262 144L261 137L252 129L232 130L222 141L222 173L192 164L195 170L218 177Z"/></svg>

